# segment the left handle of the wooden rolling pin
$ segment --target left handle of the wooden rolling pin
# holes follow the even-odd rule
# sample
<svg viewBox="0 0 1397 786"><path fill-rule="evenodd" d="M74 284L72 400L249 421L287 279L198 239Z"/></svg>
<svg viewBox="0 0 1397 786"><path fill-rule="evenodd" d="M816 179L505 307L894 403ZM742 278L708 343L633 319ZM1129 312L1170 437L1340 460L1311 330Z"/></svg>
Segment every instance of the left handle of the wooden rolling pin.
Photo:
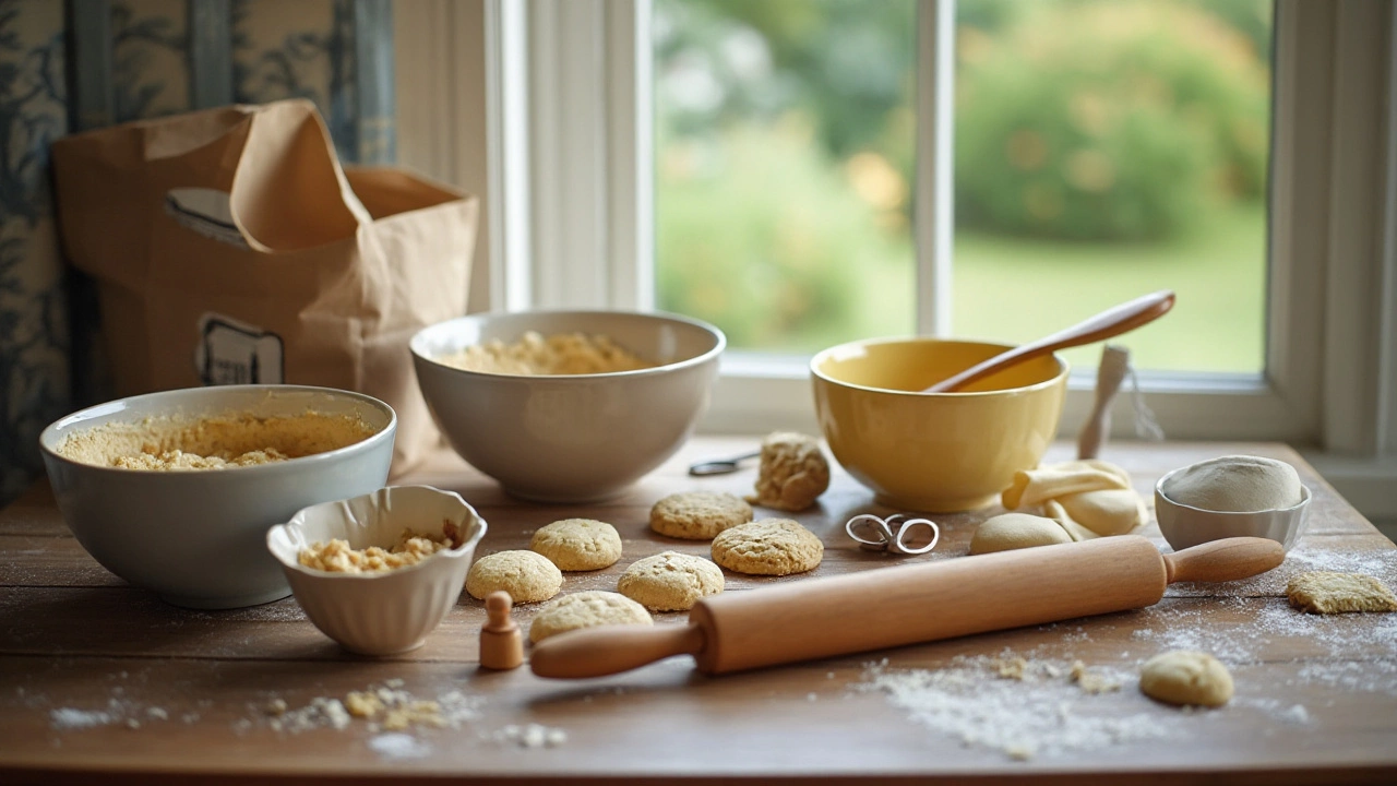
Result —
<svg viewBox="0 0 1397 786"><path fill-rule="evenodd" d="M577 680L638 669L672 655L698 655L705 635L694 624L598 625L559 634L534 648L529 669L539 677Z"/></svg>

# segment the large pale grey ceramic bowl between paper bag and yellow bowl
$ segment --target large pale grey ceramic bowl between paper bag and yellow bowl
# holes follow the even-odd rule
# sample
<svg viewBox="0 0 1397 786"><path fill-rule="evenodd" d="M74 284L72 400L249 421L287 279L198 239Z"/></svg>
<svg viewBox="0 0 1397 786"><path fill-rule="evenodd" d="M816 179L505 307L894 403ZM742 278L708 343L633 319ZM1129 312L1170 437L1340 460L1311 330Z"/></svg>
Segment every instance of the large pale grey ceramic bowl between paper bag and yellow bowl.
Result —
<svg viewBox="0 0 1397 786"><path fill-rule="evenodd" d="M528 376L437 358L525 331L606 336L655 368ZM543 502L615 496L672 456L708 407L726 338L711 324L637 312L517 312L453 319L412 337L418 385L451 446L506 491Z"/></svg>

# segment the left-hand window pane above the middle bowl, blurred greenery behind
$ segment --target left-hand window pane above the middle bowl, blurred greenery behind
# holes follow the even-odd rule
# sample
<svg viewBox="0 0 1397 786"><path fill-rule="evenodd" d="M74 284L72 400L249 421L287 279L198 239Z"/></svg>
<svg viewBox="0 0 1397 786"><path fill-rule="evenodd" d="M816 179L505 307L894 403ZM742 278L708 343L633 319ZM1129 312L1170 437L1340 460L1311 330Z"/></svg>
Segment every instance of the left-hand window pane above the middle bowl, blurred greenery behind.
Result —
<svg viewBox="0 0 1397 786"><path fill-rule="evenodd" d="M914 330L914 0L657 0L657 303L736 348Z"/></svg>

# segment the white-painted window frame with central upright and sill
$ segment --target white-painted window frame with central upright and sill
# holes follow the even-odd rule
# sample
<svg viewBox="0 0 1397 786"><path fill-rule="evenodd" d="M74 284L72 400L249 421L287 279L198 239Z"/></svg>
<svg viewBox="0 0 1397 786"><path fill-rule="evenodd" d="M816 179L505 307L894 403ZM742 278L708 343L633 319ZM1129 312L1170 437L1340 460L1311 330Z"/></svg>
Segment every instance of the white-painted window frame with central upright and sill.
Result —
<svg viewBox="0 0 1397 786"><path fill-rule="evenodd" d="M446 3L398 0L395 14ZM485 308L654 308L650 0L461 6L481 8L486 42L490 144L475 152L489 162ZM1275 20L1266 373L1141 383L1171 439L1289 442L1359 509L1397 516L1391 4L1280 0ZM949 334L954 0L918 0L918 69L933 78L916 95L915 187L932 196L914 221L916 323ZM1065 435L1085 417L1091 382L1074 378ZM1129 407L1122 396L1119 438L1132 436ZM806 362L729 351L701 428L816 431Z"/></svg>

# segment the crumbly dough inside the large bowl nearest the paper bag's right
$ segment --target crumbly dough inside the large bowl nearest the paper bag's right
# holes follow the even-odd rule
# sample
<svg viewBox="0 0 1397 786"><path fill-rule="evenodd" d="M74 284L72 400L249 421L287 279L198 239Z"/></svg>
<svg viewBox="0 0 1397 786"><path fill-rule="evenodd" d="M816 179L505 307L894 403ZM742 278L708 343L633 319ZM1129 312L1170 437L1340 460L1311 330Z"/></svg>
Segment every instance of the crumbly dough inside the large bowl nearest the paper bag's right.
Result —
<svg viewBox="0 0 1397 786"><path fill-rule="evenodd" d="M608 336L559 333L545 338L534 330L513 344L492 338L436 361L465 371L518 375L613 373L655 368L655 364L640 359Z"/></svg>

